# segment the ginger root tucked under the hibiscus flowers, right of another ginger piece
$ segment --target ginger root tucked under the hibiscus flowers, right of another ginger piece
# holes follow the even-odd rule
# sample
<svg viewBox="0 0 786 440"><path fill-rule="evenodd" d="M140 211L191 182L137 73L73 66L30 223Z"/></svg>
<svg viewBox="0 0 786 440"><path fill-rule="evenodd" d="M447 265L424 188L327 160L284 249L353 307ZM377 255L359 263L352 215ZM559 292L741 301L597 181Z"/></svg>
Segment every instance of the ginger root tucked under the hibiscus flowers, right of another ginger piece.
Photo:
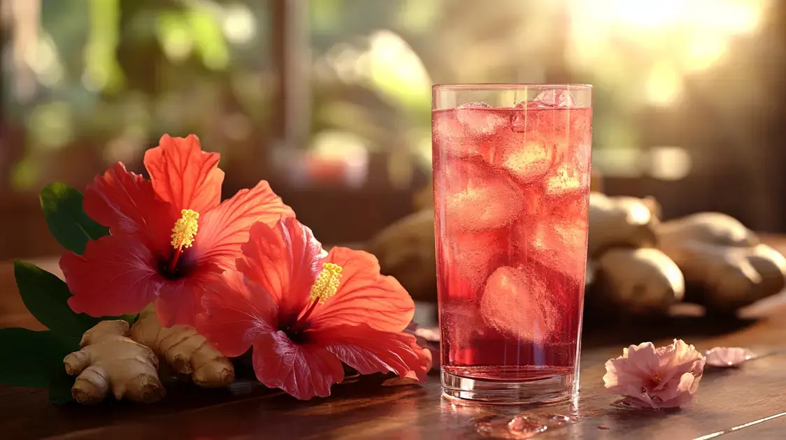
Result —
<svg viewBox="0 0 786 440"><path fill-rule="evenodd" d="M189 325L163 328L152 308L139 314L131 327L131 339L152 348L174 372L191 375L196 385L205 388L228 387L235 371L229 359Z"/></svg>

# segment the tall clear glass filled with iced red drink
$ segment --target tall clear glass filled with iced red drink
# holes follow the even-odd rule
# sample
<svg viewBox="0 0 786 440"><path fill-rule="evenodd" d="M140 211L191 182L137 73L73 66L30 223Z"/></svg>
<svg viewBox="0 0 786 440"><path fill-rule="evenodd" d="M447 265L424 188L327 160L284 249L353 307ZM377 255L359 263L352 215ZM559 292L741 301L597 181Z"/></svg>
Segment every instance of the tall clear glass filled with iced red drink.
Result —
<svg viewBox="0 0 786 440"><path fill-rule="evenodd" d="M592 86L434 86L442 384L450 398L578 391Z"/></svg>

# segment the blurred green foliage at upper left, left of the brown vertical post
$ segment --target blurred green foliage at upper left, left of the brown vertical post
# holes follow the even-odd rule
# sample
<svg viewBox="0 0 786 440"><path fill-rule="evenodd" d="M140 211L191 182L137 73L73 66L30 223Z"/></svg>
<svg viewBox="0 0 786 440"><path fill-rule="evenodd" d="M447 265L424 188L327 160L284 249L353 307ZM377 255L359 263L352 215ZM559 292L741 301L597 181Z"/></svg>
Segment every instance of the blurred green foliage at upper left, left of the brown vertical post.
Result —
<svg viewBox="0 0 786 440"><path fill-rule="evenodd" d="M57 150L133 161L163 133L196 133L212 149L245 154L229 151L233 133L223 122L240 120L246 138L266 123L266 13L257 0L42 0L22 62L2 72L7 123L26 141L14 185L41 185L42 163ZM32 93L18 88L29 79Z"/></svg>

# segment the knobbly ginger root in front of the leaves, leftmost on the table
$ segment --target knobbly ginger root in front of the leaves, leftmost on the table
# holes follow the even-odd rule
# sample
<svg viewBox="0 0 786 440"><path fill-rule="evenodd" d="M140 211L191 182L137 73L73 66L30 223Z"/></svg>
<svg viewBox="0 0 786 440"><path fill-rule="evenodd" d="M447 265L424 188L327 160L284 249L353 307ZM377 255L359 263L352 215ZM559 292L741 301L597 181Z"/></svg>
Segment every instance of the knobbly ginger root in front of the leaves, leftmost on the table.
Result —
<svg viewBox="0 0 786 440"><path fill-rule="evenodd" d="M117 400L152 403L163 398L156 355L127 336L126 321L101 321L82 336L82 350L63 359L65 372L79 375L71 389L76 402L101 402L110 389Z"/></svg>

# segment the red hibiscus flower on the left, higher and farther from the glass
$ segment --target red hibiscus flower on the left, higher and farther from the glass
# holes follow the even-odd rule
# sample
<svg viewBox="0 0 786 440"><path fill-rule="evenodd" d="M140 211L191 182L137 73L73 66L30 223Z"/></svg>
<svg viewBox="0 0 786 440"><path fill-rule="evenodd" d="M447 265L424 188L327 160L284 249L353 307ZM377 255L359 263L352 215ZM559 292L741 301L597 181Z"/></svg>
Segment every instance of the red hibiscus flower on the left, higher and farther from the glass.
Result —
<svg viewBox="0 0 786 440"><path fill-rule="evenodd" d="M221 202L219 154L196 136L164 135L145 152L150 180L116 163L87 185L84 209L111 235L60 260L68 305L92 316L133 314L155 303L165 326L193 325L202 285L234 269L255 222L294 216L266 181Z"/></svg>

